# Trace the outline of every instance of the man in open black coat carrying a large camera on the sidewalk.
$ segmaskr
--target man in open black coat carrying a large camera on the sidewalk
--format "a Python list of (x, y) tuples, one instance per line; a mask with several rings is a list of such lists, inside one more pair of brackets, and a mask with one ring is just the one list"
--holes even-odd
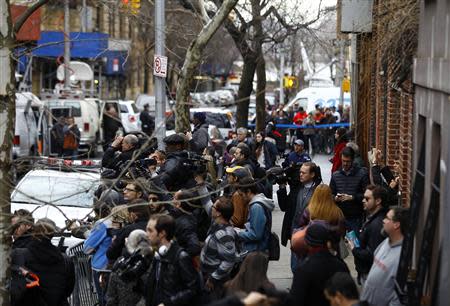
[[(299, 169), (299, 183), (290, 183), (290, 192), (287, 194), (287, 181), (279, 181), (277, 191), (280, 209), (285, 212), (281, 228), (281, 244), (286, 246), (294, 229), (298, 228), (298, 220), (308, 206), (309, 200), (317, 185), (322, 181), (320, 168), (313, 162), (305, 162)], [(291, 181), (292, 182), (292, 181)], [(295, 270), (296, 255), (291, 254), (291, 268)]]

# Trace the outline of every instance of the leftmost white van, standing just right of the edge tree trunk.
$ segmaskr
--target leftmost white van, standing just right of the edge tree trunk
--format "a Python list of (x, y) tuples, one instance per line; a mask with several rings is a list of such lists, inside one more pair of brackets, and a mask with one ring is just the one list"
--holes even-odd
[(31, 92), (16, 93), (16, 123), (14, 128), (13, 158), (34, 156), (38, 153), (39, 131), (33, 110), (43, 106)]

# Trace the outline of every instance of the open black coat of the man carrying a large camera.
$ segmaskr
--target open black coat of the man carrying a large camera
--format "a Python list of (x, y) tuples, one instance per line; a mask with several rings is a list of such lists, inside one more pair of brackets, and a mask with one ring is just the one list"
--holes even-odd
[[(297, 196), (301, 189), (303, 189), (303, 185), (291, 186), (289, 195), (287, 195), (286, 188), (280, 188), (277, 191), (278, 205), (280, 206), (281, 211), (285, 212), (281, 228), (281, 244), (284, 246), (286, 246), (287, 241), (291, 239), (294, 215), (297, 207)], [(311, 189), (306, 192), (306, 196), (301, 200), (301, 203), (299, 203), (302, 207), (299, 210), (300, 214), (298, 216), (298, 221), (300, 220), (303, 210), (308, 206), (309, 200), (315, 189), (316, 185), (314, 184)]]

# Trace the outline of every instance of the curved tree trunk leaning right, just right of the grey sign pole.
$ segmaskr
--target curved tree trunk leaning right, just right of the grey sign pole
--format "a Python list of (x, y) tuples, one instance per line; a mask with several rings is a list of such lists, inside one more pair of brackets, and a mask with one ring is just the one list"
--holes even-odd
[(177, 103), (175, 106), (175, 130), (177, 133), (184, 133), (191, 129), (189, 101), (194, 74), (202, 60), (203, 50), (220, 25), (228, 18), (237, 2), (238, 0), (225, 0), (211, 21), (203, 27), (198, 37), (189, 46), (177, 86)]

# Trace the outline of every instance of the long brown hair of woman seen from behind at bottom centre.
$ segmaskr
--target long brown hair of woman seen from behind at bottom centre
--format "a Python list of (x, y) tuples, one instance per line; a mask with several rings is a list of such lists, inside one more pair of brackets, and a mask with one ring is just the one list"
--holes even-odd
[(228, 295), (237, 292), (250, 293), (259, 289), (270, 290), (275, 286), (267, 278), (269, 258), (262, 252), (252, 252), (245, 257), (238, 274), (225, 283)]

